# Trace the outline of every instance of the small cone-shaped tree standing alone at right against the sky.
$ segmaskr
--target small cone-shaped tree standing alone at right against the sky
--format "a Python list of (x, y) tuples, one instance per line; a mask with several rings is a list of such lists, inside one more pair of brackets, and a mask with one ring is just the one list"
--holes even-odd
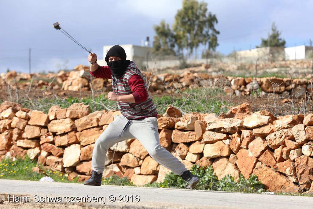
[(272, 24), (272, 34), (269, 35), (268, 39), (261, 39), (261, 44), (258, 47), (285, 47), (286, 41), (280, 37), (281, 32), (277, 30), (275, 22)]

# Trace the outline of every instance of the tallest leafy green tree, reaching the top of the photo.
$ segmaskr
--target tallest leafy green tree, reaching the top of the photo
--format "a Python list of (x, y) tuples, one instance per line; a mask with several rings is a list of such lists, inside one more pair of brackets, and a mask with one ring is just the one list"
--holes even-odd
[(215, 24), (217, 18), (208, 12), (207, 3), (183, 0), (182, 9), (177, 11), (173, 24), (178, 51), (182, 54), (182, 50), (187, 49), (191, 55), (193, 50), (197, 52), (200, 44), (208, 44), (208, 49), (215, 50), (219, 34)]

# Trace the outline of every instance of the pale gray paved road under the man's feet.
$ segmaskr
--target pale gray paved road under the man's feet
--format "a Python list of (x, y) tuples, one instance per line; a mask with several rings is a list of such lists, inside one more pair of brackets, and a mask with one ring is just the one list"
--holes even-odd
[[(0, 194), (10, 194), (22, 200), (29, 196), (31, 202), (47, 201), (49, 197), (99, 197), (89, 206), (106, 208), (313, 208), (313, 197), (280, 196), (196, 190), (160, 189), (128, 186), (84, 186), (74, 183), (55, 183), (22, 180), (0, 180)], [(37, 195), (37, 196), (34, 196)], [(104, 198), (105, 197), (105, 198)], [(116, 200), (114, 201), (114, 197)], [(129, 200), (128, 202), (126, 199)], [(112, 198), (112, 199), (110, 199)], [(124, 202), (119, 202), (123, 198)], [(110, 200), (112, 202), (110, 202)], [(73, 200), (73, 199), (72, 199)], [(72, 201), (64, 199), (63, 201)], [(14, 200), (15, 201), (15, 200)], [(78, 200), (80, 201), (80, 200)], [(113, 202), (114, 201), (114, 202)], [(137, 201), (137, 202), (136, 202)], [(66, 203), (73, 204), (73, 203)], [(91, 204), (91, 205), (90, 205)], [(36, 206), (35, 203), (33, 205)]]

